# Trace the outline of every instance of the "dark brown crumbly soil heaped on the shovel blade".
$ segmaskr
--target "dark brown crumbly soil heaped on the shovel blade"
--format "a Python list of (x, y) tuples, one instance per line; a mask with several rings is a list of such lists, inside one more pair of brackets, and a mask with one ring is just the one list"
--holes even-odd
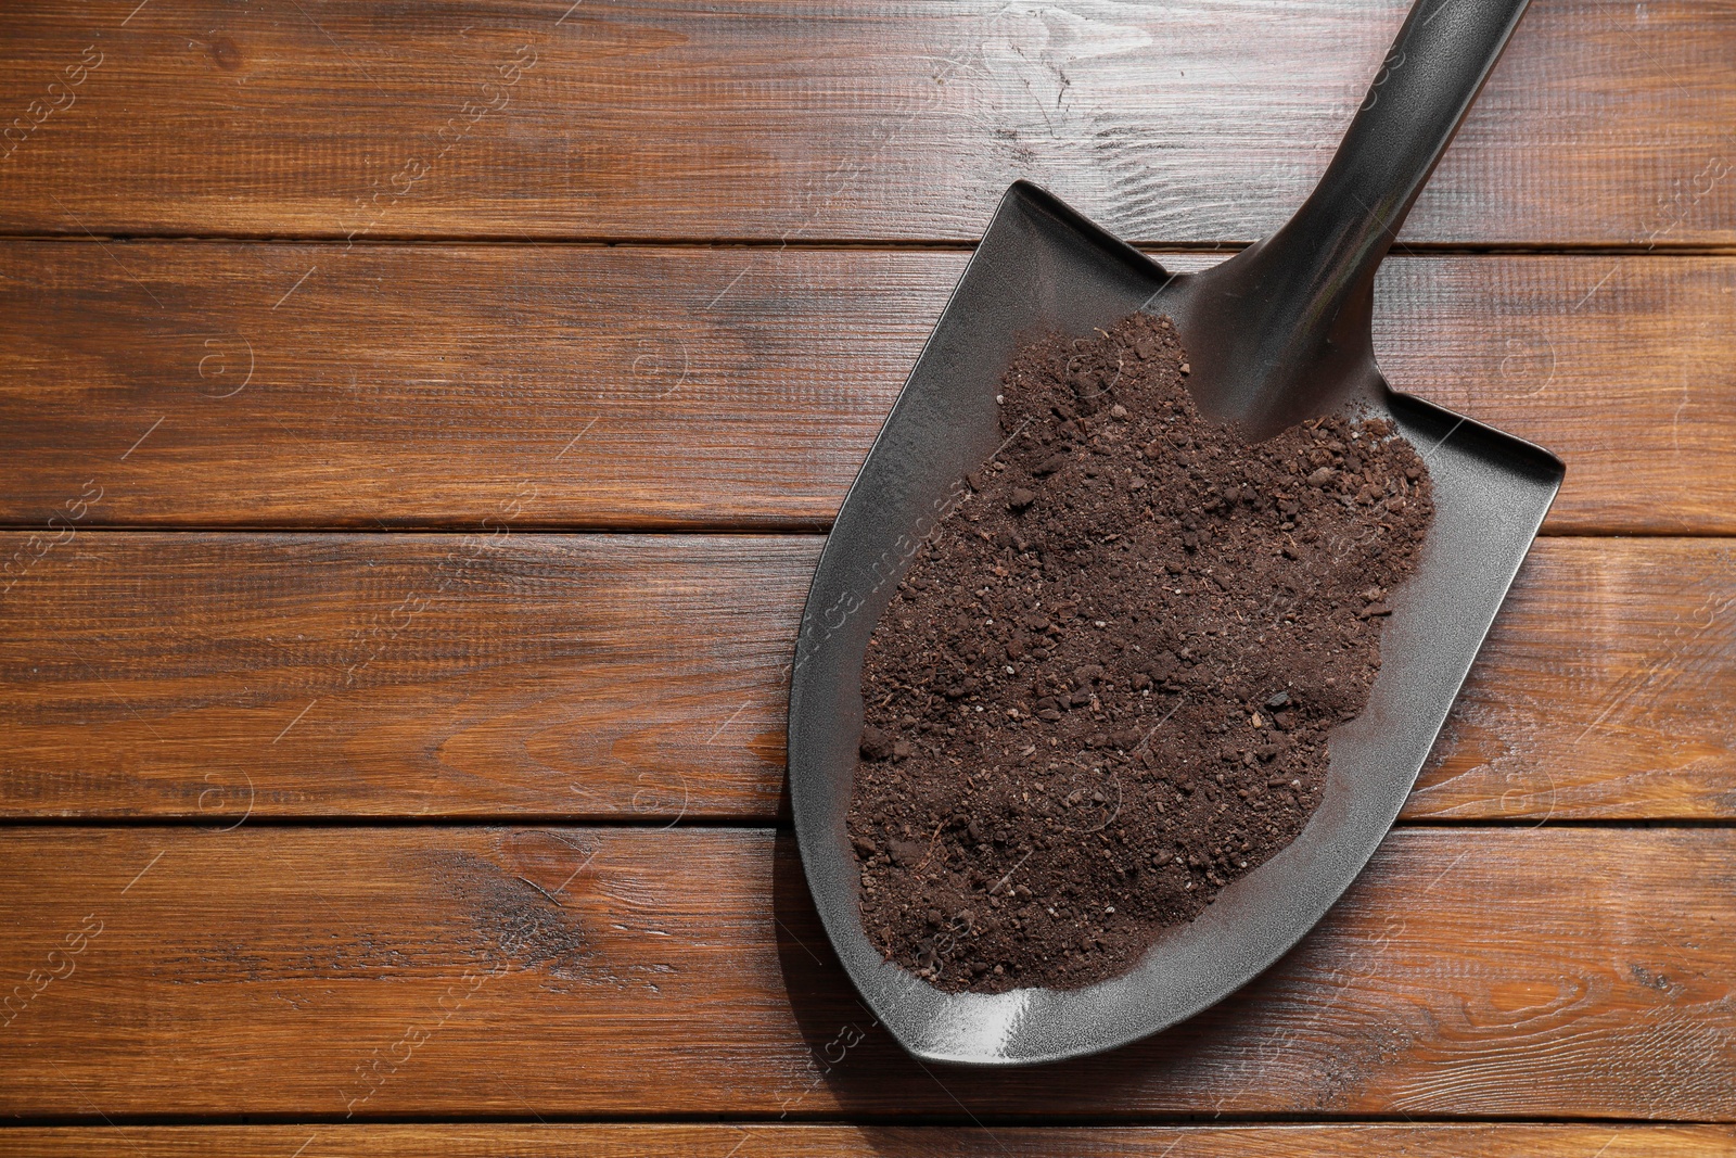
[(1288, 845), (1434, 505), (1378, 418), (1246, 444), (1167, 318), (1024, 345), (1009, 441), (868, 646), (849, 833), (885, 957), (1078, 988)]

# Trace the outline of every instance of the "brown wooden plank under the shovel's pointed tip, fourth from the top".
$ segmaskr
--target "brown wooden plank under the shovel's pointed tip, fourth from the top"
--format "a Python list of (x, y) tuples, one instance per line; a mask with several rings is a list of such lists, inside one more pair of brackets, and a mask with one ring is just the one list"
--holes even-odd
[(1736, 1118), (1729, 828), (1399, 830), (1236, 997), (1017, 1071), (873, 1028), (766, 830), (7, 828), (0, 882), (5, 1115)]

